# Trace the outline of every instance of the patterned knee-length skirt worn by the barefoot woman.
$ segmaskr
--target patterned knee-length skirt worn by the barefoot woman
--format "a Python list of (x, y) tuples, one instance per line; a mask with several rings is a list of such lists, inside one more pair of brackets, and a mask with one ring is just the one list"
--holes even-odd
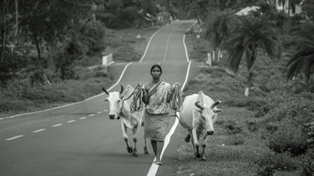
[(144, 138), (150, 138), (155, 141), (165, 141), (169, 121), (169, 113), (151, 114), (144, 111)]

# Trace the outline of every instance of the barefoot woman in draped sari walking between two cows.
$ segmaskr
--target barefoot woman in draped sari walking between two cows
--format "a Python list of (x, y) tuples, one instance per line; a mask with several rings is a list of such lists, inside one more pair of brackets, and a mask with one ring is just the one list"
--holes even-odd
[(168, 103), (172, 97), (174, 88), (170, 84), (160, 81), (163, 73), (160, 65), (151, 67), (151, 77), (153, 81), (143, 85), (142, 100), (146, 104), (144, 112), (144, 137), (151, 139), (156, 160), (154, 163), (162, 165), (160, 154), (163, 150), (165, 134), (169, 126), (170, 115), (168, 112)]

